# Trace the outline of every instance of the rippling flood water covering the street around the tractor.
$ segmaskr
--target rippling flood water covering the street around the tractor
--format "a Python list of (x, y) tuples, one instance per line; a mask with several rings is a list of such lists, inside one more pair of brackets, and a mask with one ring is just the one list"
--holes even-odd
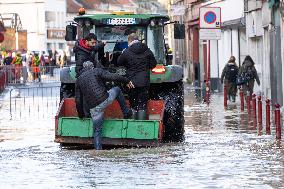
[(261, 134), (239, 107), (228, 109), (221, 94), (207, 106), (186, 93), (185, 142), (95, 151), (54, 143), (54, 118), (37, 116), (37, 108), (34, 117), (10, 119), (6, 100), (0, 188), (284, 188), (283, 144), (274, 128)]

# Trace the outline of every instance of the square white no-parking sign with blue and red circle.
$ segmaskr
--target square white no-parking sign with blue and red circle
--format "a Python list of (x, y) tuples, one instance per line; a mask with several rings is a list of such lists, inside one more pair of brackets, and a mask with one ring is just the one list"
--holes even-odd
[(200, 28), (219, 29), (221, 28), (221, 8), (201, 7), (199, 10)]

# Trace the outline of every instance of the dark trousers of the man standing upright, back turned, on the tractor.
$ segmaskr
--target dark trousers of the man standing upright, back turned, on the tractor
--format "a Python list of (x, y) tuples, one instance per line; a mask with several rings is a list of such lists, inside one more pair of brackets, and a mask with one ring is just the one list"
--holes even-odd
[(133, 110), (146, 110), (149, 98), (149, 87), (135, 87), (128, 93), (129, 103)]

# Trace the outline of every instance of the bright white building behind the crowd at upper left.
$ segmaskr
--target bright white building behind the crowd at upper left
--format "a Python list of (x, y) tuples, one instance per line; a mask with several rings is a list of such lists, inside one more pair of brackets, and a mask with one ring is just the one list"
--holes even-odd
[(17, 13), (27, 30), (27, 49), (64, 49), (65, 0), (0, 0), (1, 13)]

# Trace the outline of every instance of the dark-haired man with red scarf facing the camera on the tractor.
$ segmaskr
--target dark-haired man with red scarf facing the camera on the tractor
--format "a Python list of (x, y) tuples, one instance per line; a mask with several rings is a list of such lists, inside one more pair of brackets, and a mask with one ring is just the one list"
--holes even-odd
[(89, 33), (84, 39), (80, 39), (76, 42), (73, 49), (75, 53), (76, 61), (76, 77), (79, 76), (80, 71), (83, 68), (83, 63), (91, 61), (94, 63), (94, 67), (102, 67), (96, 60), (95, 55), (97, 52), (101, 54), (105, 46), (105, 42), (97, 43), (97, 36), (93, 33)]

